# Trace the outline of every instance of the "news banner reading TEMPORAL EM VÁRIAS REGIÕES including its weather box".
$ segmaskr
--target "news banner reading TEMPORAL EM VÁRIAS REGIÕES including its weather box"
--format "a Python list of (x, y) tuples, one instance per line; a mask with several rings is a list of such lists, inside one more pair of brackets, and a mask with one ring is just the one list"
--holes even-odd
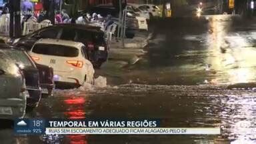
[(17, 135), (219, 135), (219, 127), (163, 127), (159, 119), (16, 119)]

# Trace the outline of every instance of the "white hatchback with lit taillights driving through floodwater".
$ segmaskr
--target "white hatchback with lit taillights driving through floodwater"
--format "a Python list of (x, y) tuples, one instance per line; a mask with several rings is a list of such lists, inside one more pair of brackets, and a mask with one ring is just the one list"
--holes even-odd
[(87, 53), (83, 43), (58, 39), (40, 39), (29, 51), (36, 63), (53, 67), (55, 84), (64, 87), (93, 83), (95, 71)]

